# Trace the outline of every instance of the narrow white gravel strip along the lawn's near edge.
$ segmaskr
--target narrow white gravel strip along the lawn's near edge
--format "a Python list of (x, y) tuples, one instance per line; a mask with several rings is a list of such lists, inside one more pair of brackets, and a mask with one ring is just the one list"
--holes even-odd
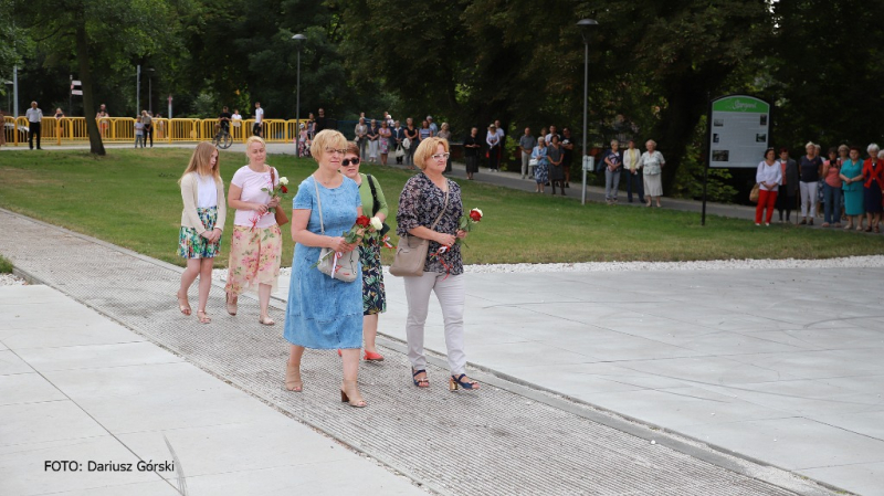
[[(558, 264), (487, 264), (465, 265), (467, 274), (530, 273), (530, 272), (640, 272), (640, 271), (730, 271), (761, 268), (882, 268), (884, 255), (848, 256), (823, 260), (711, 260), (701, 262), (585, 262)], [(389, 267), (383, 267), (389, 275)], [(280, 270), (288, 277), (291, 268)], [(227, 268), (212, 271), (212, 278), (227, 281)]]

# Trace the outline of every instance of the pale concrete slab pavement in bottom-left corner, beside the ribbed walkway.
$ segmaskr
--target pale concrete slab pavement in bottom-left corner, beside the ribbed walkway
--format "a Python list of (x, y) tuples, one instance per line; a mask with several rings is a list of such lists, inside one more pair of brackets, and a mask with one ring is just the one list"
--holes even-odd
[(56, 289), (0, 287), (0, 494), (293, 490), (427, 494)]

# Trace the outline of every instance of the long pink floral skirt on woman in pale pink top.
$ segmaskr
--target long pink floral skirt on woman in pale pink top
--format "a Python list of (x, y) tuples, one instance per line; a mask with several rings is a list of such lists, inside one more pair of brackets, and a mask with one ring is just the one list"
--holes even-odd
[(234, 225), (224, 291), (234, 295), (257, 292), (259, 284), (276, 291), (282, 251), (283, 235), (278, 225), (266, 229)]

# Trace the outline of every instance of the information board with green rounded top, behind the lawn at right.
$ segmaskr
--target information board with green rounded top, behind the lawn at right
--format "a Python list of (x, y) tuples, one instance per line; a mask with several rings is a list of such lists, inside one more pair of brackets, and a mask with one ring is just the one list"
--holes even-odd
[(749, 95), (712, 101), (709, 167), (755, 169), (770, 140), (770, 104)]

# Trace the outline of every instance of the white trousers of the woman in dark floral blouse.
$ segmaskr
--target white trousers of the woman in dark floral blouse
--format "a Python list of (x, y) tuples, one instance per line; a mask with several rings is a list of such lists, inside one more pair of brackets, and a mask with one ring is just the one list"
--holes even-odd
[(435, 293), (442, 307), (442, 319), (445, 324), (445, 348), (448, 348), (449, 369), (452, 376), (466, 373), (466, 355), (463, 351), (463, 307), (466, 300), (466, 287), (463, 274), (424, 272), (420, 277), (404, 277), (406, 297), (408, 298), (408, 319), (406, 337), (408, 339), (408, 359), (414, 370), (427, 369), (427, 356), (423, 353), (423, 331), (427, 312), (430, 305), (430, 292)]

